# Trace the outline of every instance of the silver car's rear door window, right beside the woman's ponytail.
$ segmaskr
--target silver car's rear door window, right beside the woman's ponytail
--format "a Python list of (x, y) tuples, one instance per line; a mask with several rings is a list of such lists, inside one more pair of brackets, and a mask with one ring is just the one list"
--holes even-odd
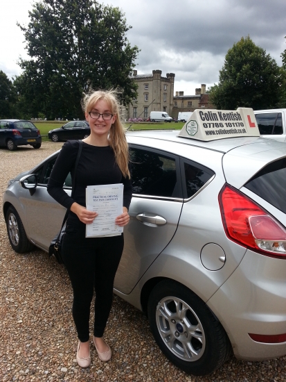
[(134, 194), (174, 197), (177, 183), (175, 158), (145, 149), (129, 149)]

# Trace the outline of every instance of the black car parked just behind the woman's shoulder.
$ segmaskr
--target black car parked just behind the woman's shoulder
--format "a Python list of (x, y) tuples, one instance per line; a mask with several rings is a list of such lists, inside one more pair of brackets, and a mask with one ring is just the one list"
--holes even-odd
[(87, 121), (68, 122), (60, 128), (53, 128), (48, 132), (48, 139), (53, 142), (61, 140), (81, 140), (90, 134), (89, 123)]

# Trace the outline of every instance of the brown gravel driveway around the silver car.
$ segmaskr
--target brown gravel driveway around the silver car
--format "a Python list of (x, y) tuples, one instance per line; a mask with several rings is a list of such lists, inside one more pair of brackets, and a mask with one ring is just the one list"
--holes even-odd
[[(60, 147), (44, 142), (38, 150), (0, 149), (1, 200), (10, 178)], [(102, 363), (91, 347), (91, 367), (80, 369), (64, 266), (44, 251), (16, 254), (2, 214), (0, 224), (0, 381), (286, 381), (286, 357), (261, 363), (231, 357), (204, 377), (181, 372), (161, 354), (145, 315), (116, 296), (105, 332), (113, 357)]]

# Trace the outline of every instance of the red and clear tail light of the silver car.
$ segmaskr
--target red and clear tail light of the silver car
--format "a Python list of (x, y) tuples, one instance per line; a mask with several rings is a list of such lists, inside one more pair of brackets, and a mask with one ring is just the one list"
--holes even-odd
[(286, 259), (286, 229), (242, 192), (229, 185), (219, 195), (229, 239), (262, 255)]

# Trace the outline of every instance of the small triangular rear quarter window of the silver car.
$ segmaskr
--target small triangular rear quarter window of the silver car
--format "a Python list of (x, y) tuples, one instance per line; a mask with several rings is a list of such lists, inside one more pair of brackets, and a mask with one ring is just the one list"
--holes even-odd
[(181, 173), (185, 198), (193, 197), (215, 175), (211, 169), (190, 160), (183, 160)]

